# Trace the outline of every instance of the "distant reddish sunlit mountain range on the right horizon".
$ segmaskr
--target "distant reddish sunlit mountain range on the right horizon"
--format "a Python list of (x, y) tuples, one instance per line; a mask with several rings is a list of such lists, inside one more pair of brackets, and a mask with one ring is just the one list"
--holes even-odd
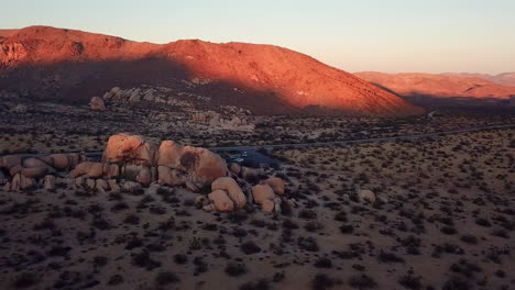
[(430, 74), (357, 72), (355, 76), (402, 97), (508, 99), (515, 87), (478, 77)]

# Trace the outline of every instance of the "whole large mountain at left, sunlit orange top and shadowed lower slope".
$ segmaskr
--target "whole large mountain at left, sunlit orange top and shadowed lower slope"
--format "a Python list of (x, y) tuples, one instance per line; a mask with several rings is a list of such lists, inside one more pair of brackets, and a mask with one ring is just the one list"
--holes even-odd
[(182, 88), (195, 79), (213, 105), (239, 104), (258, 113), (424, 111), (349, 72), (272, 45), (198, 40), (160, 45), (50, 26), (3, 35), (0, 90), (30, 98), (86, 103), (114, 86)]

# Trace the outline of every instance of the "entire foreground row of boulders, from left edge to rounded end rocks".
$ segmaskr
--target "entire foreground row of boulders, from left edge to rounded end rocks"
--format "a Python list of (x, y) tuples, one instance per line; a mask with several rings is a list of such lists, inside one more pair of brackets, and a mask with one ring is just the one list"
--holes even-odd
[(266, 212), (280, 212), (281, 196), (285, 191), (280, 178), (269, 178), (251, 188), (248, 180), (256, 180), (259, 169), (238, 164), (228, 166), (221, 156), (209, 149), (173, 141), (155, 146), (143, 136), (125, 133), (109, 138), (101, 160), (89, 160), (79, 154), (8, 155), (0, 158), (0, 175), (3, 189), (12, 191), (54, 189), (56, 183), (99, 192), (184, 187), (193, 192), (210, 192), (197, 197), (196, 202), (206, 211), (220, 212), (244, 208), (249, 202), (260, 204)]

